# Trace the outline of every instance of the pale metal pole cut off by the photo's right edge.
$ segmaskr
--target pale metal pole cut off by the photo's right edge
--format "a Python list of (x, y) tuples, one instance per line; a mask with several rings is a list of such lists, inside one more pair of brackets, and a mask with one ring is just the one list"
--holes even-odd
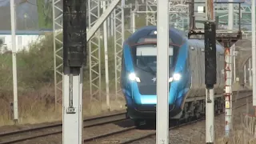
[(251, 3), (252, 62), (253, 62), (253, 106), (256, 106), (256, 43), (255, 43), (255, 1)]

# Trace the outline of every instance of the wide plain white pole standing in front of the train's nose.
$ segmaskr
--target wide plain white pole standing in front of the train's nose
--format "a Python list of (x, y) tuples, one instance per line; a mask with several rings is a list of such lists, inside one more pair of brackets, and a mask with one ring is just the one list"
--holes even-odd
[(157, 3), (157, 144), (169, 143), (169, 1)]

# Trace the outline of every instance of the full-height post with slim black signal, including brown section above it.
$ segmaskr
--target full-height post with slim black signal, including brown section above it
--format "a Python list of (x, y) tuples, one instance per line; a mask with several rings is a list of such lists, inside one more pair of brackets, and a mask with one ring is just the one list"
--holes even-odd
[[(206, 21), (214, 22), (214, 1), (206, 0)], [(211, 27), (211, 28), (210, 28)], [(206, 143), (214, 143), (214, 84), (217, 81), (216, 75), (216, 42), (215, 38), (209, 38), (212, 26), (206, 26), (205, 23), (205, 42), (206, 52), (205, 54), (205, 72), (206, 72)], [(210, 30), (209, 30), (210, 29)], [(216, 33), (216, 28), (214, 28)], [(214, 34), (215, 35), (215, 34)], [(207, 37), (208, 36), (208, 37)], [(216, 36), (214, 36), (216, 37)], [(214, 41), (214, 42), (212, 42)], [(211, 45), (210, 45), (211, 44)], [(214, 68), (214, 69), (213, 69)], [(210, 78), (213, 77), (213, 78)]]

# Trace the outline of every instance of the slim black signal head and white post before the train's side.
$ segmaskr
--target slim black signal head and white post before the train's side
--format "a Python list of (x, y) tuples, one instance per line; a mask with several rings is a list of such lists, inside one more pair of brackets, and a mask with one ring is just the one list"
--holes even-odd
[(205, 22), (206, 143), (214, 143), (214, 84), (216, 84), (215, 22)]

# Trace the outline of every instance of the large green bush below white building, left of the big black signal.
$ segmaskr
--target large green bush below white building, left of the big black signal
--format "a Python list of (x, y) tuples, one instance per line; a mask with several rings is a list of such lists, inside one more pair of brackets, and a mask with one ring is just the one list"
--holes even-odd
[[(54, 82), (52, 39), (47, 36), (39, 42), (31, 43), (30, 51), (17, 53), (18, 90), (36, 90), (46, 83)], [(2, 54), (0, 59), (0, 74), (4, 75), (0, 82), (6, 86), (4, 90), (12, 90), (12, 55)]]

